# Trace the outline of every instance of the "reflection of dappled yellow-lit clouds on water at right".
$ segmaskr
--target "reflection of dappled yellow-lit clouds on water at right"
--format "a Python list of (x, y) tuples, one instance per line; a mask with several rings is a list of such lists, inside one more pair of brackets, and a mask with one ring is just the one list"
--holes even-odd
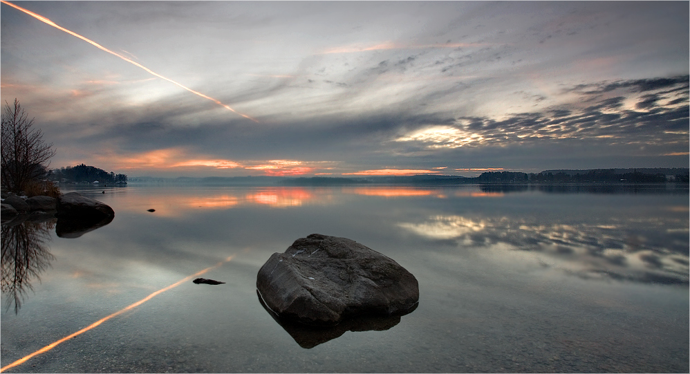
[(584, 279), (689, 283), (688, 226), (670, 219), (545, 224), (507, 216), (436, 215), (398, 226), (435, 241), (498, 250), (498, 256), (505, 250), (529, 253), (528, 261)]

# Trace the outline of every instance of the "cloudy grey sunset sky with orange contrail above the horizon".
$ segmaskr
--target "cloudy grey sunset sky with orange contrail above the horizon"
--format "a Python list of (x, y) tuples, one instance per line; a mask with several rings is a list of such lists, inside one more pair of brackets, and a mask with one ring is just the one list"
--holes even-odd
[(690, 163), (688, 1), (10, 3), (49, 20), (0, 5), (1, 100), (35, 118), (51, 168), (476, 176)]

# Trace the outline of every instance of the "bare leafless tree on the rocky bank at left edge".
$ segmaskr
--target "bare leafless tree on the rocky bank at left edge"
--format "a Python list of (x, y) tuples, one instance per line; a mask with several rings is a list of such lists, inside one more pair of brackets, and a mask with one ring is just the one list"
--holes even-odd
[(0, 169), (2, 186), (8, 191), (24, 191), (31, 183), (44, 178), (50, 165), (48, 160), (55, 156), (53, 143), (44, 142), (43, 132), (32, 129), (33, 122), (17, 99), (12, 106), (5, 102)]

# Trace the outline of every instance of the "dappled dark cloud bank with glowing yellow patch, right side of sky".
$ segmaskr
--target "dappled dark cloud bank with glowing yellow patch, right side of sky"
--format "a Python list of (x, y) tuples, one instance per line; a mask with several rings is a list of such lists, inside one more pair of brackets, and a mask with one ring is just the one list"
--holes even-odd
[[(590, 86), (599, 88), (584, 89)], [(687, 148), (687, 86), (688, 76), (579, 86), (564, 90), (580, 93), (577, 101), (559, 108), (516, 113), (503, 120), (458, 117), (453, 125), (415, 129), (394, 141), (414, 142), (426, 149), (510, 146), (566, 139), (608, 144), (674, 144), (674, 147)], [(599, 95), (613, 91), (624, 95)], [(656, 92), (635, 95), (649, 91)], [(581, 106), (581, 102), (588, 105)], [(626, 106), (627, 102), (635, 104)]]

